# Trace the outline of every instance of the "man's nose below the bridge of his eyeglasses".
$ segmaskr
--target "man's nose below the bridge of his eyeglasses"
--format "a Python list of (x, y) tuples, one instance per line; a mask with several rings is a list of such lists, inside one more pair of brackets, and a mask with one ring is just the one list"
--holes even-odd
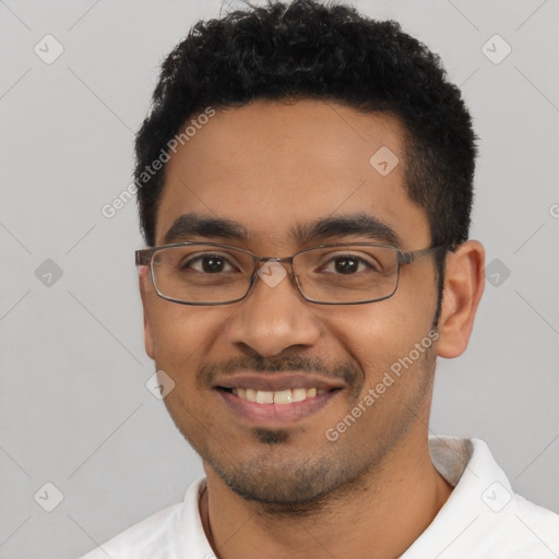
[[(267, 263), (270, 264), (270, 262)], [(264, 265), (248, 296), (229, 319), (226, 335), (241, 349), (272, 357), (289, 347), (310, 347), (321, 336), (321, 323), (282, 264)], [(272, 271), (271, 271), (272, 270)], [(280, 277), (281, 276), (281, 277)]]

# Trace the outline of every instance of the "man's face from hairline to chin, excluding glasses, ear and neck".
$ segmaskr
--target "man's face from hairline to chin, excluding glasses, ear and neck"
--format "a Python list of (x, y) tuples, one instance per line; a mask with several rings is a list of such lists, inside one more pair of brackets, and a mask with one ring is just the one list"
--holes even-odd
[[(385, 176), (369, 163), (383, 146), (400, 159)], [(426, 248), (426, 213), (405, 192), (404, 164), (403, 130), (386, 115), (312, 100), (219, 110), (167, 164), (156, 243), (223, 242), (278, 258), (323, 242), (385, 243), (364, 231), (292, 236), (320, 219), (366, 214), (389, 226), (402, 250)], [(185, 214), (236, 222), (247, 237), (182, 231), (169, 238)], [(243, 300), (212, 307), (166, 301), (145, 274), (141, 282), (147, 353), (176, 383), (167, 408), (206, 471), (238, 495), (312, 501), (350, 486), (424, 432), (432, 348), (412, 365), (408, 358), (400, 378), (391, 373), (382, 394), (376, 386), (431, 329), (432, 257), (402, 267), (393, 297), (366, 305), (308, 302), (289, 276), (274, 287), (259, 277)], [(245, 401), (231, 386), (308, 391), (301, 402), (264, 404)], [(312, 395), (313, 386), (325, 392)], [(378, 396), (372, 404), (370, 389)], [(336, 437), (332, 428), (359, 403), (360, 417)]]

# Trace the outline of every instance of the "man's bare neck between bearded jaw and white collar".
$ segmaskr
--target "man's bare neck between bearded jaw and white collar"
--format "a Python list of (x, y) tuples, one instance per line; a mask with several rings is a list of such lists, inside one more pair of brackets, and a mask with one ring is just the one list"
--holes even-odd
[[(417, 441), (417, 442), (415, 442)], [(234, 493), (205, 464), (200, 512), (219, 559), (400, 557), (432, 522), (452, 487), (435, 469), (425, 439), (399, 445), (349, 490), (316, 513), (274, 514)]]

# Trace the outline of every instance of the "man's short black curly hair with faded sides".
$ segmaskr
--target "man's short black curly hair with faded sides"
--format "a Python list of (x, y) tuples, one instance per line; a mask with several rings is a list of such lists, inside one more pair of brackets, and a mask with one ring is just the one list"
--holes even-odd
[(407, 192), (426, 210), (432, 245), (467, 239), (476, 141), (460, 90), (447, 81), (439, 57), (396, 22), (365, 17), (348, 5), (269, 0), (197, 23), (163, 63), (135, 142), (147, 245), (155, 243), (165, 183), (165, 166), (154, 171), (152, 164), (168, 155), (169, 140), (188, 119), (207, 107), (293, 98), (396, 116), (406, 131)]

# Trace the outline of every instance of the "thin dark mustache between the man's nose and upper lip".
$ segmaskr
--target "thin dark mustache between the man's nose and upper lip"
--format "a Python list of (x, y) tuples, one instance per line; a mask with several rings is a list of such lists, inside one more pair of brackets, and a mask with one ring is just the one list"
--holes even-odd
[(215, 384), (215, 379), (222, 374), (234, 374), (247, 370), (254, 372), (318, 372), (325, 378), (343, 380), (348, 385), (353, 385), (359, 376), (359, 370), (354, 365), (338, 362), (326, 366), (317, 357), (298, 355), (285, 357), (241, 356), (222, 362), (203, 365), (197, 373), (197, 385), (212, 386)]

